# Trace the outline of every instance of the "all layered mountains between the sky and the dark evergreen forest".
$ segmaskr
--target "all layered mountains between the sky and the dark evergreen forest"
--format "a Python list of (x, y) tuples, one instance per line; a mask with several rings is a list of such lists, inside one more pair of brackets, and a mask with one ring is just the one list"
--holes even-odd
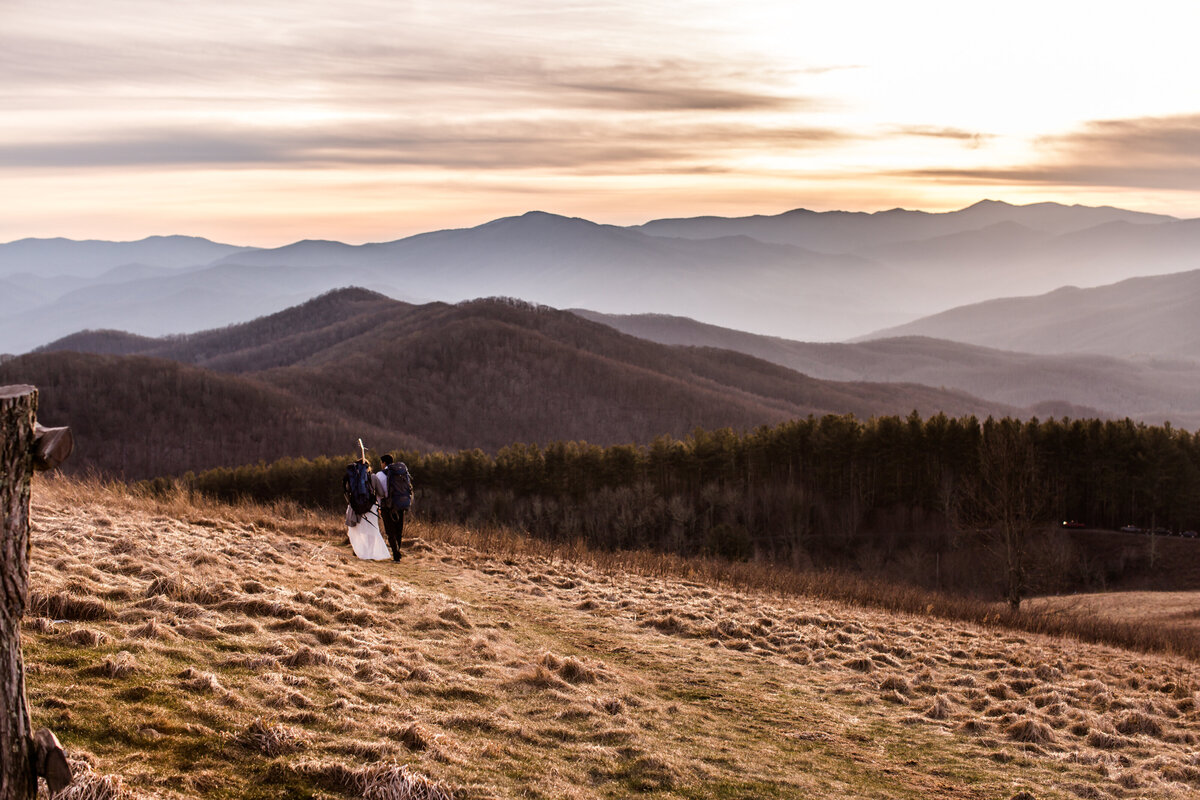
[(0, 383), (42, 389), (42, 416), (80, 433), (76, 468), (130, 477), (359, 437), (614, 444), (827, 413), (1195, 428), (1196, 253), (1200, 221), (1001, 203), (635, 228), (530, 212), (275, 249), (23, 240), (0, 245), (0, 351), (32, 351), (0, 357)]

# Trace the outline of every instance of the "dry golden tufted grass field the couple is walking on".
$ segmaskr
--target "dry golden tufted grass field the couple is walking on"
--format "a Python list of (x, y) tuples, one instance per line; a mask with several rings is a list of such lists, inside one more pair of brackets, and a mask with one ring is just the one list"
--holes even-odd
[(1181, 657), (61, 479), (32, 519), (74, 800), (1200, 795)]

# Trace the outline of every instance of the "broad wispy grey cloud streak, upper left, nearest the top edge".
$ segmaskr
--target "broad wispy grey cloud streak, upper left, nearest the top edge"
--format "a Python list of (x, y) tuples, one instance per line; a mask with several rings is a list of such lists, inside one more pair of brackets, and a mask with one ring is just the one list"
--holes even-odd
[[(577, 48), (546, 31), (530, 48), (510, 37), (388, 35), (388, 25), (247, 36), (163, 38), (131, 26), (113, 37), (38, 30), (0, 48), (0, 96), (37, 102), (47, 94), (148, 98), (214, 106), (251, 98), (334, 108), (602, 108), (785, 110), (816, 108), (791, 85), (796, 74), (752, 55), (644, 55), (626, 48)], [(679, 49), (678, 47), (676, 49)]]

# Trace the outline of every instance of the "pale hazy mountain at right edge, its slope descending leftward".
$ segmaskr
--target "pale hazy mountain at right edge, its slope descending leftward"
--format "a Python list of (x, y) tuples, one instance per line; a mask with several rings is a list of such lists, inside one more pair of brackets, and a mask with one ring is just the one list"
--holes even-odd
[(1028, 353), (1200, 359), (1200, 270), (974, 303), (864, 338), (934, 336)]

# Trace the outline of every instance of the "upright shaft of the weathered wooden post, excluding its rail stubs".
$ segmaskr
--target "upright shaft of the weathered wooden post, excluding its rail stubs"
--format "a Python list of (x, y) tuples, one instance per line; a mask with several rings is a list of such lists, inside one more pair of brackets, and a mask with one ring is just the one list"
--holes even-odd
[(0, 800), (37, 793), (31, 760), (20, 618), (29, 589), (29, 487), (37, 390), (0, 387)]

